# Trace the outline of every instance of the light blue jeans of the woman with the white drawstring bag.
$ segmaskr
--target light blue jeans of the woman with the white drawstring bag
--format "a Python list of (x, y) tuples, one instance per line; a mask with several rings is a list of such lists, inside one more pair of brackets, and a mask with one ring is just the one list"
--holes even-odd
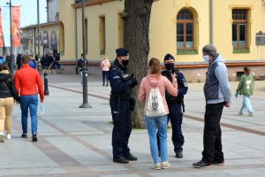
[(156, 126), (158, 127), (158, 135), (160, 140), (161, 148), (161, 160), (162, 162), (168, 161), (168, 142), (167, 142), (167, 125), (168, 118), (167, 115), (159, 117), (148, 117), (145, 115), (145, 119), (148, 127), (149, 143), (151, 155), (154, 160), (154, 163), (159, 163), (158, 159), (158, 147), (156, 139)]

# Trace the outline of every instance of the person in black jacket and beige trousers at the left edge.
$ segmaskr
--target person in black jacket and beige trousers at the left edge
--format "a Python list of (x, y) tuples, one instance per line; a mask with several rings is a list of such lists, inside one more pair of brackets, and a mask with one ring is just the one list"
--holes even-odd
[(7, 64), (0, 64), (0, 142), (4, 142), (4, 131), (6, 139), (11, 139), (14, 99), (19, 103), (19, 94), (10, 69)]

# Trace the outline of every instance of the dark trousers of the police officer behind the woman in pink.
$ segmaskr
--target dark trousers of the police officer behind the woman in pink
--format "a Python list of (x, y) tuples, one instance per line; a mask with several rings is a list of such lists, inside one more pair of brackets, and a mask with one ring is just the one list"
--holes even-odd
[[(169, 104), (168, 107), (170, 111), (170, 114), (168, 114), (168, 122), (170, 120), (172, 127), (171, 140), (174, 145), (174, 151), (175, 152), (182, 151), (183, 150), (182, 146), (184, 144), (184, 136), (181, 130), (181, 124), (183, 119), (181, 104)], [(160, 150), (160, 142), (158, 134), (156, 134), (156, 138), (157, 138), (158, 150)]]

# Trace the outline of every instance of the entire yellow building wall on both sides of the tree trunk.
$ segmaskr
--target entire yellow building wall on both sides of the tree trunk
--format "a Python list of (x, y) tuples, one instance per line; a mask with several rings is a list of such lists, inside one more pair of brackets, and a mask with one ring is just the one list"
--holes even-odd
[[(209, 0), (160, 0), (152, 6), (149, 42), (149, 58), (160, 58), (166, 53), (171, 53), (177, 62), (202, 62), (201, 49), (210, 42), (210, 12)], [(221, 53), (226, 61), (228, 60), (257, 60), (265, 58), (265, 47), (255, 45), (255, 33), (260, 30), (265, 33), (265, 6), (261, 6), (259, 0), (213, 0), (213, 44), (217, 52)], [(64, 55), (62, 60), (69, 60), (75, 57), (74, 45), (74, 7), (73, 0), (60, 0), (60, 20), (64, 23)], [(113, 60), (116, 57), (115, 50), (118, 46), (118, 13), (123, 12), (125, 0), (112, 1), (109, 3), (86, 6), (85, 18), (87, 19), (87, 42), (89, 60), (98, 61), (104, 57)], [(231, 8), (249, 7), (251, 9), (251, 32), (250, 32), (250, 53), (233, 53), (231, 39)], [(195, 24), (198, 29), (195, 32), (198, 54), (179, 55), (177, 54), (177, 14), (186, 8), (195, 15)], [(105, 55), (100, 55), (99, 44), (99, 16), (105, 16), (106, 27), (106, 49)], [(77, 9), (77, 31), (78, 31), (78, 57), (82, 49), (82, 25), (81, 8)], [(262, 52), (263, 51), (263, 52)]]

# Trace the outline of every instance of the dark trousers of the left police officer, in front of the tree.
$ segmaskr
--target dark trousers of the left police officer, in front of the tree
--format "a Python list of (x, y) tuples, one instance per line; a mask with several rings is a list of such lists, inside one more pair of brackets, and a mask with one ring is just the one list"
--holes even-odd
[[(110, 99), (110, 108), (114, 126), (112, 130), (113, 158), (129, 156), (130, 149), (128, 147), (128, 142), (132, 132), (130, 102), (121, 100), (118, 111), (117, 101)], [(119, 112), (118, 117), (117, 112)]]

